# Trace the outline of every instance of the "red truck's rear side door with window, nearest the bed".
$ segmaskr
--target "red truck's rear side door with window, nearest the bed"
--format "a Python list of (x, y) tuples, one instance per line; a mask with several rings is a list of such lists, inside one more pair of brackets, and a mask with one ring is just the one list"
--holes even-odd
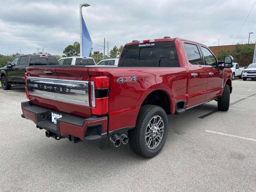
[(187, 107), (190, 107), (205, 101), (208, 72), (205, 70), (198, 45), (184, 42), (184, 48), (189, 69)]

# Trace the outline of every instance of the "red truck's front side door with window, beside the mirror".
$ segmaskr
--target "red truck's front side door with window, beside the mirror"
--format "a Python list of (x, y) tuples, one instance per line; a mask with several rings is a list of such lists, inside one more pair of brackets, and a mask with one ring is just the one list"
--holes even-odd
[(204, 70), (208, 74), (206, 100), (216, 98), (222, 90), (223, 70), (219, 69), (217, 59), (205, 46), (200, 46), (204, 60)]

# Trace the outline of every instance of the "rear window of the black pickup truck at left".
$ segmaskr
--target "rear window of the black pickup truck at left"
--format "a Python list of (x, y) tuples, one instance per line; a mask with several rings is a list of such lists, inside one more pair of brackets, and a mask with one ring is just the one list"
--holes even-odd
[(31, 56), (29, 65), (58, 65), (58, 60), (54, 56), (44, 56), (40, 55)]

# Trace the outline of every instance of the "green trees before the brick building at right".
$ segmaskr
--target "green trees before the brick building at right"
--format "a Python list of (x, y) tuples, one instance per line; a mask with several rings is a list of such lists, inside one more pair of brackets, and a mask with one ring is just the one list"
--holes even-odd
[(236, 44), (235, 49), (221, 49), (218, 54), (218, 60), (224, 60), (226, 55), (231, 55), (234, 62), (242, 66), (248, 66), (252, 63), (254, 48), (250, 44)]

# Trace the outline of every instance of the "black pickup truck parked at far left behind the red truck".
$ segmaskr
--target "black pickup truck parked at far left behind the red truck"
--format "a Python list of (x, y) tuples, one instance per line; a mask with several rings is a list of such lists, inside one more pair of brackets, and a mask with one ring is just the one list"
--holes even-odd
[(16, 56), (7, 66), (0, 68), (2, 88), (9, 90), (12, 85), (25, 85), (26, 67), (34, 65), (58, 65), (58, 60), (55, 56), (46, 54)]

